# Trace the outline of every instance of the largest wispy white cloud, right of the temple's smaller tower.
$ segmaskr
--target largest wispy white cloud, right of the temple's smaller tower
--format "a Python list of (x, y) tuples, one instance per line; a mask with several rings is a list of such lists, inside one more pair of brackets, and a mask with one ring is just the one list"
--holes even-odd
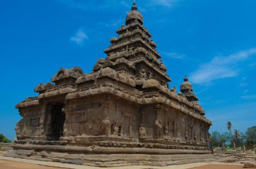
[(239, 73), (238, 62), (247, 60), (256, 54), (256, 48), (231, 54), (230, 56), (215, 56), (210, 62), (201, 64), (191, 73), (191, 81), (196, 84), (205, 84), (220, 78), (230, 78)]

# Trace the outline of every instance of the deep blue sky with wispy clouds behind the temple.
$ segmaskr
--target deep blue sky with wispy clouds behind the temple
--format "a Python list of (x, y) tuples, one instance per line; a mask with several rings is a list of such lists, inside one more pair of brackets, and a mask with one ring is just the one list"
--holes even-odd
[[(61, 67), (91, 72), (132, 0), (0, 1), (0, 133), (13, 139), (15, 104)], [(256, 125), (256, 1), (137, 0), (172, 78), (193, 83), (211, 131)]]

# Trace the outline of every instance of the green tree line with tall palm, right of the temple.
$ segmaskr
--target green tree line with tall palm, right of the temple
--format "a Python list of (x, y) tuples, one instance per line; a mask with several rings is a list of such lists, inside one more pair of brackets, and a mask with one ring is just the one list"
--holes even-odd
[(245, 133), (234, 129), (232, 131), (232, 123), (226, 123), (228, 131), (220, 133), (219, 131), (212, 132), (211, 146), (222, 147), (223, 144), (230, 148), (238, 148), (245, 145), (247, 149), (256, 146), (256, 126), (249, 127)]

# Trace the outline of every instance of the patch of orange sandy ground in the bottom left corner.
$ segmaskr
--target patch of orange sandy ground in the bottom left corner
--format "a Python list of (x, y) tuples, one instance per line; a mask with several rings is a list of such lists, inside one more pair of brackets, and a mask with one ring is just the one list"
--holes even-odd
[[(22, 162), (11, 162), (0, 160), (0, 168), (2, 169), (55, 169), (54, 167), (39, 166), (36, 164), (28, 164)], [(61, 168), (57, 168), (61, 169)]]

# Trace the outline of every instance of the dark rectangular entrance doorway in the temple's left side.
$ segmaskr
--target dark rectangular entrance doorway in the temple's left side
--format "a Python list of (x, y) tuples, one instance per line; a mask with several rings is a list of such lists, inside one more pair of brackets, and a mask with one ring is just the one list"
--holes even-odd
[(59, 140), (59, 138), (63, 136), (63, 127), (65, 123), (65, 112), (63, 112), (63, 106), (53, 105), (51, 116), (51, 139)]

